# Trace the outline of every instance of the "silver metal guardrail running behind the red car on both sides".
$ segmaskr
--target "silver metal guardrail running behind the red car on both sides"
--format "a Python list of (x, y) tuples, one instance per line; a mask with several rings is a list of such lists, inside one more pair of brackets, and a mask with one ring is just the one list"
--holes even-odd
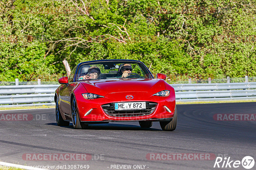
[[(256, 82), (172, 84), (176, 101), (256, 100)], [(0, 107), (54, 104), (54, 92), (59, 85), (0, 86)], [(33, 103), (33, 104), (31, 104)], [(8, 105), (7, 105), (8, 104)]]

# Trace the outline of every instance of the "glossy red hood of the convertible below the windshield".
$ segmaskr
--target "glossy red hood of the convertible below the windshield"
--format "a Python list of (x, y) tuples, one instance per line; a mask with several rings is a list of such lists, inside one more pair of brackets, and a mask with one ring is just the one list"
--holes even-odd
[(155, 94), (165, 89), (162, 79), (106, 79), (81, 81), (89, 93), (105, 96), (116, 92), (148, 92)]

